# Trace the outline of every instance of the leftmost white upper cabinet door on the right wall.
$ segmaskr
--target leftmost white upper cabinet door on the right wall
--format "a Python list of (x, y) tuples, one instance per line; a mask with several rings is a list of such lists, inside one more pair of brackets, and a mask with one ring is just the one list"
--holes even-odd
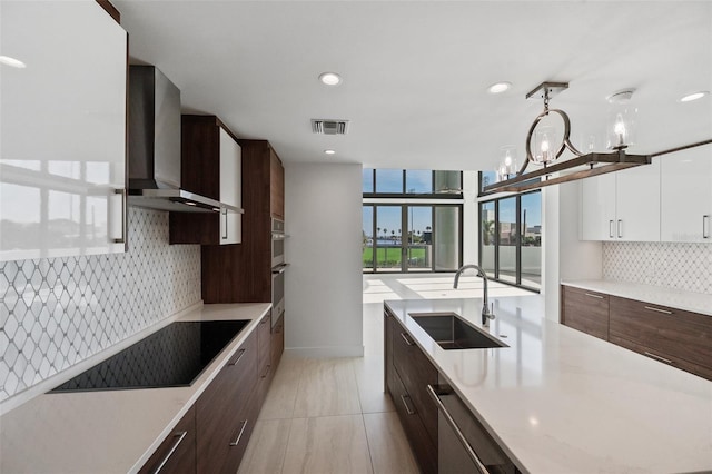
[(615, 239), (615, 174), (581, 181), (581, 239)]

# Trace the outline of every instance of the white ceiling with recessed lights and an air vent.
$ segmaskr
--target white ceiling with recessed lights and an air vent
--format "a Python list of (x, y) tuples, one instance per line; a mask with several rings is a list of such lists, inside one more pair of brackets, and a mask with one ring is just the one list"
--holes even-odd
[[(502, 146), (524, 155), (543, 109), (524, 97), (544, 80), (570, 82), (552, 107), (568, 112), (580, 148), (603, 142), (605, 98), (630, 87), (632, 152), (712, 138), (712, 97), (678, 101), (712, 90), (709, 1), (113, 3), (131, 58), (181, 89), (184, 111), (268, 139), (285, 161), (491, 169)], [(343, 83), (323, 86), (324, 71)], [(502, 80), (513, 88), (486, 92)], [(349, 132), (313, 135), (312, 118), (349, 119)]]

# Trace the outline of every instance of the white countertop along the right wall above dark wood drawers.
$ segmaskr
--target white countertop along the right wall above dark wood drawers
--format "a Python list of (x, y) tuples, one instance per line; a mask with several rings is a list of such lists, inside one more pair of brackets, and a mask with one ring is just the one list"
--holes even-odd
[(565, 280), (561, 284), (712, 316), (712, 295), (705, 293), (610, 279)]

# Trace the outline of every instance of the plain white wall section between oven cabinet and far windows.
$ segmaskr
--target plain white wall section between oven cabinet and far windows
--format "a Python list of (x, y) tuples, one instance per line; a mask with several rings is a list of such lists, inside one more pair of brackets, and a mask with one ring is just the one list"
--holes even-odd
[(364, 354), (360, 165), (285, 164), (285, 350)]

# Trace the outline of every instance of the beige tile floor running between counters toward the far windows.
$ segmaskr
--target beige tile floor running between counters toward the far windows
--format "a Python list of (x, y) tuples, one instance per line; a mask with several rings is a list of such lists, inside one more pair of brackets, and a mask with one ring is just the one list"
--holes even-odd
[[(417, 473), (390, 398), (383, 392), (383, 300), (479, 296), (479, 278), (364, 276), (364, 357), (281, 359), (239, 474)], [(514, 292), (514, 293), (513, 293)], [(491, 294), (521, 292), (492, 285)]]

